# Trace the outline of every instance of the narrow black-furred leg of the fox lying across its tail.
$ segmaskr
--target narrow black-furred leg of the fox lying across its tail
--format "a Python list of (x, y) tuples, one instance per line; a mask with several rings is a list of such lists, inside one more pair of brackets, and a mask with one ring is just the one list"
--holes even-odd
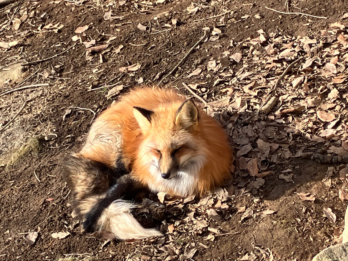
[(140, 187), (130, 175), (120, 177), (116, 184), (114, 184), (106, 194), (106, 196), (97, 201), (93, 208), (85, 215), (85, 221), (82, 226), (86, 232), (94, 232), (95, 225), (102, 215), (105, 208), (107, 208), (114, 200), (124, 199), (132, 200)]

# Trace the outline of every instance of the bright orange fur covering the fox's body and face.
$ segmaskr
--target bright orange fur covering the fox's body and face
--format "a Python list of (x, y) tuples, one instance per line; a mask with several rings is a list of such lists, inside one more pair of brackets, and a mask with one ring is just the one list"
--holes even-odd
[[(109, 167), (113, 167), (120, 157), (134, 179), (154, 192), (165, 191), (178, 196), (202, 195), (229, 177), (231, 149), (223, 129), (201, 109), (198, 109), (198, 122), (192, 129), (183, 129), (185, 119), (176, 122), (178, 109), (185, 100), (172, 90), (133, 90), (96, 119), (79, 155)], [(134, 106), (153, 111), (150, 125), (141, 120), (143, 128), (139, 126), (134, 117)], [(204, 161), (192, 189), (187, 191), (176, 189), (176, 184), (174, 188), (168, 185), (171, 180), (163, 184), (161, 179), (151, 175), (149, 160), (159, 157), (156, 148), (161, 148), (162, 155), (159, 172), (172, 166), (173, 144), (184, 146), (175, 155), (177, 160), (189, 155), (186, 157), (198, 157)]]

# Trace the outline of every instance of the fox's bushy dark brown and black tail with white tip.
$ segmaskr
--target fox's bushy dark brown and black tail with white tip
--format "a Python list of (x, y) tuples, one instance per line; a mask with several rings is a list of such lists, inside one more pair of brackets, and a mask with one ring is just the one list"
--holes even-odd
[(134, 198), (139, 186), (124, 168), (110, 169), (75, 155), (66, 158), (64, 174), (86, 232), (108, 231), (122, 240), (161, 235), (156, 229), (143, 228), (130, 213), (136, 205), (126, 200)]

